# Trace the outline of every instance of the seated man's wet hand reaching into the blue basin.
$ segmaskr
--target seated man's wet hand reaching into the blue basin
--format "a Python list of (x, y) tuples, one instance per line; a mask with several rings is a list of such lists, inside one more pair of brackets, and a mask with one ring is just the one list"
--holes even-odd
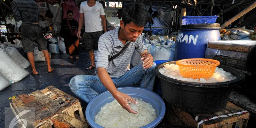
[(132, 99), (132, 97), (130, 97), (127, 94), (121, 93), (121, 92), (117, 92), (116, 94), (113, 95), (114, 98), (118, 101), (118, 103), (128, 112), (133, 113), (133, 114), (138, 114), (138, 112), (132, 110), (132, 108), (130, 107), (128, 101), (131, 101), (134, 104), (138, 104), (138, 101)]

